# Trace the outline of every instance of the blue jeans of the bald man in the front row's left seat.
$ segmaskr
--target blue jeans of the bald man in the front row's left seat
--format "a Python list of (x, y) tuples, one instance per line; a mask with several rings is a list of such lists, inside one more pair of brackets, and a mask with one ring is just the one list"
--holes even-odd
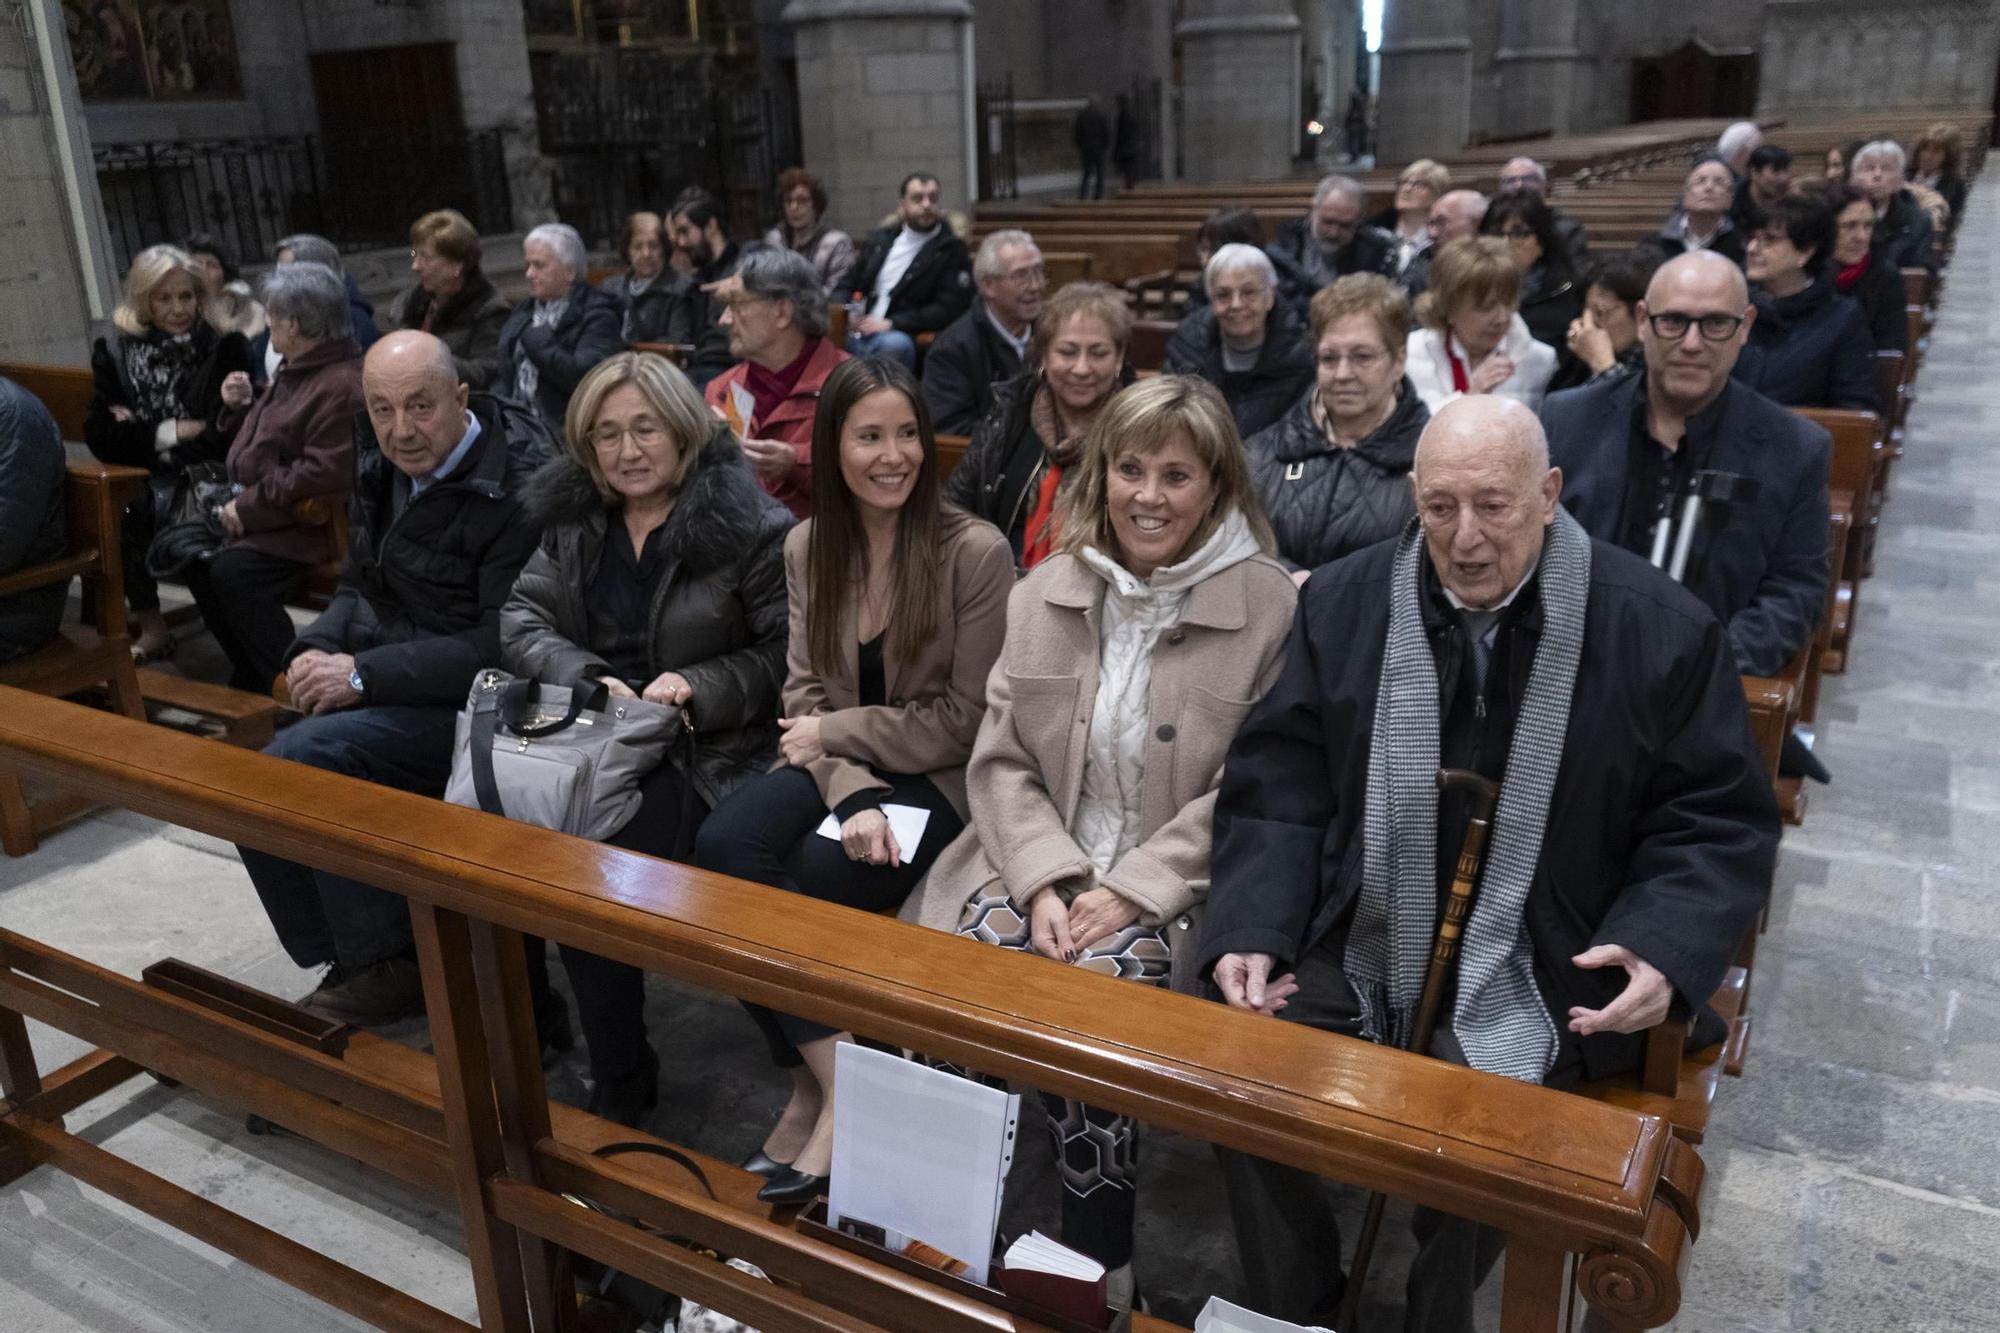
[[(444, 781), (452, 775), (456, 721), (458, 709), (442, 705), (346, 709), (294, 723), (264, 753), (398, 791), (442, 797)], [(410, 905), (400, 893), (254, 847), (236, 851), (264, 901), (264, 915), (278, 931), (278, 943), (300, 967), (340, 963), (354, 971), (410, 951)]]

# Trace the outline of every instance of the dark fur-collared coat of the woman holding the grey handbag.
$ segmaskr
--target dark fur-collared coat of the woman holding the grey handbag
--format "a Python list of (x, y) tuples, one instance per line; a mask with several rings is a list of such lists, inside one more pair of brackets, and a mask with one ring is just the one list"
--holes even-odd
[[(570, 458), (528, 484), (542, 544), (500, 616), (508, 671), (572, 687), (610, 673), (590, 644), (590, 580), (604, 542), (628, 540), (590, 474)], [(688, 472), (660, 534), (662, 572), (648, 612), (648, 671), (692, 687), (694, 787), (714, 807), (778, 753), (784, 691), (784, 534), (792, 514), (764, 494), (742, 446), (718, 430)]]

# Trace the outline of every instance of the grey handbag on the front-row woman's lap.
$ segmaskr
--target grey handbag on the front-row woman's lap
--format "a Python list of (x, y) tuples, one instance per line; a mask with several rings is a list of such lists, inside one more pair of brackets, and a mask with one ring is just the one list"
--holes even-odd
[(482, 671), (472, 683), (444, 799), (602, 843), (638, 811), (640, 783), (692, 741), (678, 709)]

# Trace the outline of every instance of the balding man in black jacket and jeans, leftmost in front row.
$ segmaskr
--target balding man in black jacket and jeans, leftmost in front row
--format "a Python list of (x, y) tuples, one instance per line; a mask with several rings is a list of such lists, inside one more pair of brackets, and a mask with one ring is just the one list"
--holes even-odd
[[(532, 410), (468, 394), (424, 332), (368, 350), (362, 396), (348, 562), (284, 671), (306, 717), (264, 753), (438, 797), (458, 709), (500, 660), (500, 606), (540, 536), (520, 486), (554, 448)], [(306, 1009), (356, 1025), (422, 1009), (400, 895), (238, 851), (292, 961), (330, 965)]]

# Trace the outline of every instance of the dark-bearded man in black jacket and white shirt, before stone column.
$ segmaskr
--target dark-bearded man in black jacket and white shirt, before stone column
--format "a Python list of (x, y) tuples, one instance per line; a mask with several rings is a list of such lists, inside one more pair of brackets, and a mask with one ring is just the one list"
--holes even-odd
[(882, 352), (916, 368), (916, 334), (938, 332), (972, 304), (972, 258), (938, 212), (938, 178), (902, 180), (896, 222), (870, 232), (854, 262), (854, 300), (866, 312), (848, 324), (848, 352)]

